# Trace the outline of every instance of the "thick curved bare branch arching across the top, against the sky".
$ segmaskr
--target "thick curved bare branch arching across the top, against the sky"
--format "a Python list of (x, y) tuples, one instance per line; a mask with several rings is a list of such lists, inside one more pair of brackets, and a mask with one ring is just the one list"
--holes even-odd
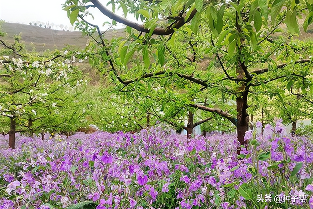
[[(136, 30), (138, 30), (140, 32), (149, 33), (149, 29), (145, 28), (144, 25), (135, 23), (135, 22), (130, 21), (130, 20), (126, 19), (126, 18), (123, 18), (123, 17), (120, 17), (120, 16), (116, 15), (115, 13), (113, 13), (112, 11), (107, 9), (105, 6), (103, 6), (99, 2), (99, 0), (90, 0), (90, 2), (93, 3), (94, 7), (98, 8), (102, 14), (104, 14), (107, 17), (109, 17), (110, 19), (115, 20), (115, 21), (117, 21), (119, 23), (125, 24), (125, 25), (127, 25), (129, 27), (132, 27), (132, 28), (134, 28), (134, 29), (136, 29)], [(174, 24), (173, 26), (169, 26), (167, 28), (156, 27), (152, 34), (155, 34), (155, 35), (169, 35), (169, 34), (172, 34), (175, 31), (174, 29), (179, 29), (184, 24), (186, 24), (189, 21), (191, 21), (191, 19), (195, 16), (196, 13), (197, 13), (197, 10), (194, 9), (191, 12), (189, 18), (186, 21), (185, 21), (185, 19), (182, 16), (182, 18), (180, 20), (178, 20), (176, 22), (176, 24)]]

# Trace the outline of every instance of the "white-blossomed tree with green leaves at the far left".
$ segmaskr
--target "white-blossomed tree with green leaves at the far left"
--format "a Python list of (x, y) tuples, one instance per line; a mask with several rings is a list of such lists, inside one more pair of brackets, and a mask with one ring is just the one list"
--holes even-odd
[(17, 132), (43, 133), (77, 124), (83, 115), (77, 113), (75, 94), (85, 82), (72, 66), (75, 57), (58, 51), (27, 53), (18, 38), (10, 46), (1, 39), (0, 44), (0, 132), (9, 135), (9, 147), (14, 149)]

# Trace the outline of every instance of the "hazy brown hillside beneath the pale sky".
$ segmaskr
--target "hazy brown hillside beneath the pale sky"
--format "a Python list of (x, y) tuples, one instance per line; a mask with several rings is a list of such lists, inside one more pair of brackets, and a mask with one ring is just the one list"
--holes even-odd
[[(67, 44), (82, 49), (87, 40), (87, 36), (82, 36), (80, 31), (59, 31), (49, 28), (42, 28), (34, 25), (25, 25), (17, 23), (2, 23), (1, 30), (7, 33), (5, 40), (13, 42), (14, 35), (21, 35), (22, 41), (28, 50), (35, 48), (41, 52), (47, 49), (62, 49)], [(124, 36), (124, 29), (108, 30), (105, 34), (107, 39), (113, 36)]]

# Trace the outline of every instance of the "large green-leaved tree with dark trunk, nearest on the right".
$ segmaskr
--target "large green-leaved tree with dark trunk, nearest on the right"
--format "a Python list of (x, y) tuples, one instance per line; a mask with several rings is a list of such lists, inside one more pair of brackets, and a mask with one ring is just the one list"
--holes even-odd
[[(167, 85), (178, 78), (181, 83), (188, 82), (185, 90), (191, 97), (184, 99), (182, 106), (223, 116), (236, 126), (241, 145), (247, 144), (244, 134), (249, 128), (251, 92), (267, 90), (272, 81), (286, 87), (293, 81), (301, 91), (311, 91), (312, 43), (302, 44), (300, 52), (292, 36), (301, 33), (299, 18), (305, 17), (304, 30), (312, 24), (312, 0), (111, 0), (109, 4), (112, 11), (99, 0), (67, 0), (64, 4), (70, 22), (76, 22), (76, 28), (97, 42), (93, 52), (99, 56), (92, 58), (93, 63), (101, 69), (106, 67), (103, 62), (108, 62), (111, 70), (107, 74), (128, 90), (136, 89), (143, 80), (156, 82), (157, 77), (167, 78)], [(116, 5), (124, 17), (115, 13)], [(111, 18), (112, 24), (126, 25), (129, 36), (105, 40), (99, 27), (86, 19), (92, 9)], [(144, 24), (130, 21), (127, 15), (140, 18)], [(287, 26), (285, 32), (283, 25)], [(183, 46), (184, 50), (179, 50)], [(137, 60), (130, 64), (136, 55)], [(211, 62), (200, 70), (197, 63), (205, 57)], [(191, 85), (198, 92), (189, 91)], [(220, 102), (204, 105), (206, 97), (195, 96), (202, 93), (216, 96)], [(235, 102), (232, 110), (220, 109), (225, 96)], [(181, 105), (175, 98), (167, 97), (169, 100)]]

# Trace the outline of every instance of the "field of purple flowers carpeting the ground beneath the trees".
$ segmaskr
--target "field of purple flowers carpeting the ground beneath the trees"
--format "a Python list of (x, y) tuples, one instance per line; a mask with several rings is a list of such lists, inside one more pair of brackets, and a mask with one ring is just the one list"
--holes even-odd
[[(260, 124), (258, 124), (260, 125)], [(263, 134), (187, 139), (152, 128), (140, 133), (0, 138), (0, 209), (310, 209), (313, 143), (278, 120)]]

